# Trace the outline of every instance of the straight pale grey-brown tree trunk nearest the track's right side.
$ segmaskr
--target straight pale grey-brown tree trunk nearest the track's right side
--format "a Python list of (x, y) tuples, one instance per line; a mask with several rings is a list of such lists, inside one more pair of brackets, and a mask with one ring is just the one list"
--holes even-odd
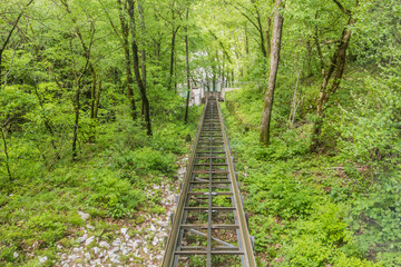
[(261, 135), (260, 141), (265, 146), (270, 145), (270, 123), (272, 119), (272, 109), (274, 100), (274, 90), (275, 82), (278, 71), (280, 63), (280, 49), (281, 49), (281, 39), (284, 18), (281, 13), (281, 8), (284, 8), (282, 0), (275, 1), (275, 14), (274, 14), (274, 29), (273, 29), (273, 40), (272, 40), (272, 53), (271, 53), (271, 68), (268, 76), (267, 90), (264, 96), (264, 105), (262, 112), (262, 122), (261, 122)]

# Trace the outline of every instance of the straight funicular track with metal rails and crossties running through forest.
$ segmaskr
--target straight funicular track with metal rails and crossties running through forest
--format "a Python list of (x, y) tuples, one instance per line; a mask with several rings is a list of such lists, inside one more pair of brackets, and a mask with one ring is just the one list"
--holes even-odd
[(206, 99), (163, 267), (256, 266), (223, 117)]

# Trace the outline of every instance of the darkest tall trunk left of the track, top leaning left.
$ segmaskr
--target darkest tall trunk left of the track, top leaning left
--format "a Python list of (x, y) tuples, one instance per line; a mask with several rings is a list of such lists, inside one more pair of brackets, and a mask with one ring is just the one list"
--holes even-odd
[(151, 136), (151, 122), (150, 122), (150, 107), (149, 107), (149, 100), (146, 96), (146, 87), (143, 82), (143, 79), (140, 77), (140, 71), (139, 71), (139, 56), (138, 56), (138, 44), (136, 42), (136, 24), (135, 24), (135, 17), (134, 17), (134, 10), (135, 10), (135, 4), (133, 0), (128, 0), (128, 13), (129, 13), (129, 18), (131, 21), (131, 36), (133, 36), (133, 42), (131, 42), (131, 47), (133, 47), (133, 59), (134, 59), (134, 73), (135, 73), (135, 79), (137, 81), (138, 88), (139, 88), (139, 93), (140, 93), (140, 98), (143, 101), (143, 107), (144, 107), (144, 117), (145, 117), (145, 122), (146, 122), (146, 129), (147, 129), (147, 135)]

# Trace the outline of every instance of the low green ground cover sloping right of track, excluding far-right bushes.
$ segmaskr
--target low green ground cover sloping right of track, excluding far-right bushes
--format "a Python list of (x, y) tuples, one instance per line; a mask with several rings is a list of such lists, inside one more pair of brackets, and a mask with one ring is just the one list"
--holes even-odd
[(399, 227), (387, 235), (376, 225), (389, 226), (387, 219), (393, 225), (400, 217), (383, 216), (391, 211), (375, 204), (384, 190), (372, 186), (371, 168), (344, 161), (341, 151), (311, 154), (307, 121), (297, 128), (273, 121), (273, 142), (261, 146), (255, 127), (261, 110), (257, 93), (246, 89), (229, 92), (223, 107), (261, 266), (400, 263), (397, 245), (383, 243), (400, 238)]

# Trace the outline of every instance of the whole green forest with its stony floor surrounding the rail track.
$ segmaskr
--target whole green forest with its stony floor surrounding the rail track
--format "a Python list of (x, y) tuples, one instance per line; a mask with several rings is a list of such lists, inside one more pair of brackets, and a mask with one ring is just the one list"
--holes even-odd
[(159, 266), (203, 83), (257, 266), (401, 266), (397, 0), (0, 1), (0, 266)]

